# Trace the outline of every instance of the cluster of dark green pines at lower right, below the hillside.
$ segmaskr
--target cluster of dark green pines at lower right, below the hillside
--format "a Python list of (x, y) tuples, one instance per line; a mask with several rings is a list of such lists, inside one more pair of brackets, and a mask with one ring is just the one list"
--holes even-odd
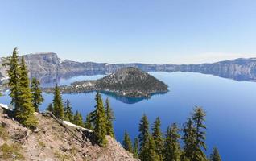
[(142, 161), (221, 161), (217, 147), (213, 148), (209, 158), (204, 153), (206, 151), (205, 116), (204, 110), (196, 107), (181, 129), (173, 123), (163, 134), (160, 118), (156, 118), (150, 128), (147, 116), (143, 114), (138, 126), (138, 137), (134, 138), (134, 145), (125, 130), (123, 147)]

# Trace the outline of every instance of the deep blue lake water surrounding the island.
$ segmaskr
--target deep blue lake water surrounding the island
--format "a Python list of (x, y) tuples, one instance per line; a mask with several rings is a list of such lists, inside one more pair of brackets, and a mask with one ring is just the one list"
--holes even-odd
[[(127, 99), (102, 93), (110, 98), (114, 109), (114, 129), (116, 138), (122, 142), (124, 130), (130, 137), (138, 136), (138, 123), (142, 114), (147, 114), (150, 122), (159, 116), (162, 129), (177, 122), (181, 127), (195, 105), (206, 111), (207, 146), (209, 154), (217, 146), (226, 161), (256, 160), (256, 83), (233, 81), (217, 76), (191, 72), (151, 72), (153, 76), (169, 85), (169, 93), (155, 95), (150, 99)], [(61, 79), (60, 85), (73, 81), (97, 79), (98, 76), (76, 76)], [(51, 86), (53, 83), (43, 86)], [(73, 111), (88, 114), (94, 109), (96, 93), (64, 94), (63, 99), (72, 103)], [(52, 94), (43, 94), (45, 101), (41, 110), (52, 102)], [(9, 104), (10, 98), (0, 97), (0, 102)]]

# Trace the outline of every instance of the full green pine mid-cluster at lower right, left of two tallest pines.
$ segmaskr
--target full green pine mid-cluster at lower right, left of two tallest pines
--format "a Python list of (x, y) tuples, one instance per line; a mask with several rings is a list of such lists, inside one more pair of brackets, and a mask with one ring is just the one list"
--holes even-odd
[(174, 123), (167, 128), (166, 139), (164, 142), (164, 161), (180, 161), (180, 134), (177, 125)]

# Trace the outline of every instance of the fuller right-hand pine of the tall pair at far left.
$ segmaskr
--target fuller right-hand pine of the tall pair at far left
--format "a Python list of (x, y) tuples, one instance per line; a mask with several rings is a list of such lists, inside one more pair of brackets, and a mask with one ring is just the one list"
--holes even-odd
[(19, 95), (17, 101), (19, 107), (15, 109), (15, 118), (17, 118), (23, 126), (35, 128), (38, 121), (34, 114), (35, 108), (32, 104), (31, 89), (29, 87), (29, 79), (24, 57), (22, 57), (20, 66)]

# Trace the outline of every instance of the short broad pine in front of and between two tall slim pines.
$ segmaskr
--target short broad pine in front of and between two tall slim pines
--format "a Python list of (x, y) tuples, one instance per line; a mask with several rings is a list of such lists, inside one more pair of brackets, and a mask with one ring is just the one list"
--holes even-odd
[(139, 154), (139, 159), (141, 159), (142, 161), (159, 161), (160, 157), (155, 151), (155, 141), (150, 134), (148, 135), (147, 141), (142, 147), (141, 153)]

